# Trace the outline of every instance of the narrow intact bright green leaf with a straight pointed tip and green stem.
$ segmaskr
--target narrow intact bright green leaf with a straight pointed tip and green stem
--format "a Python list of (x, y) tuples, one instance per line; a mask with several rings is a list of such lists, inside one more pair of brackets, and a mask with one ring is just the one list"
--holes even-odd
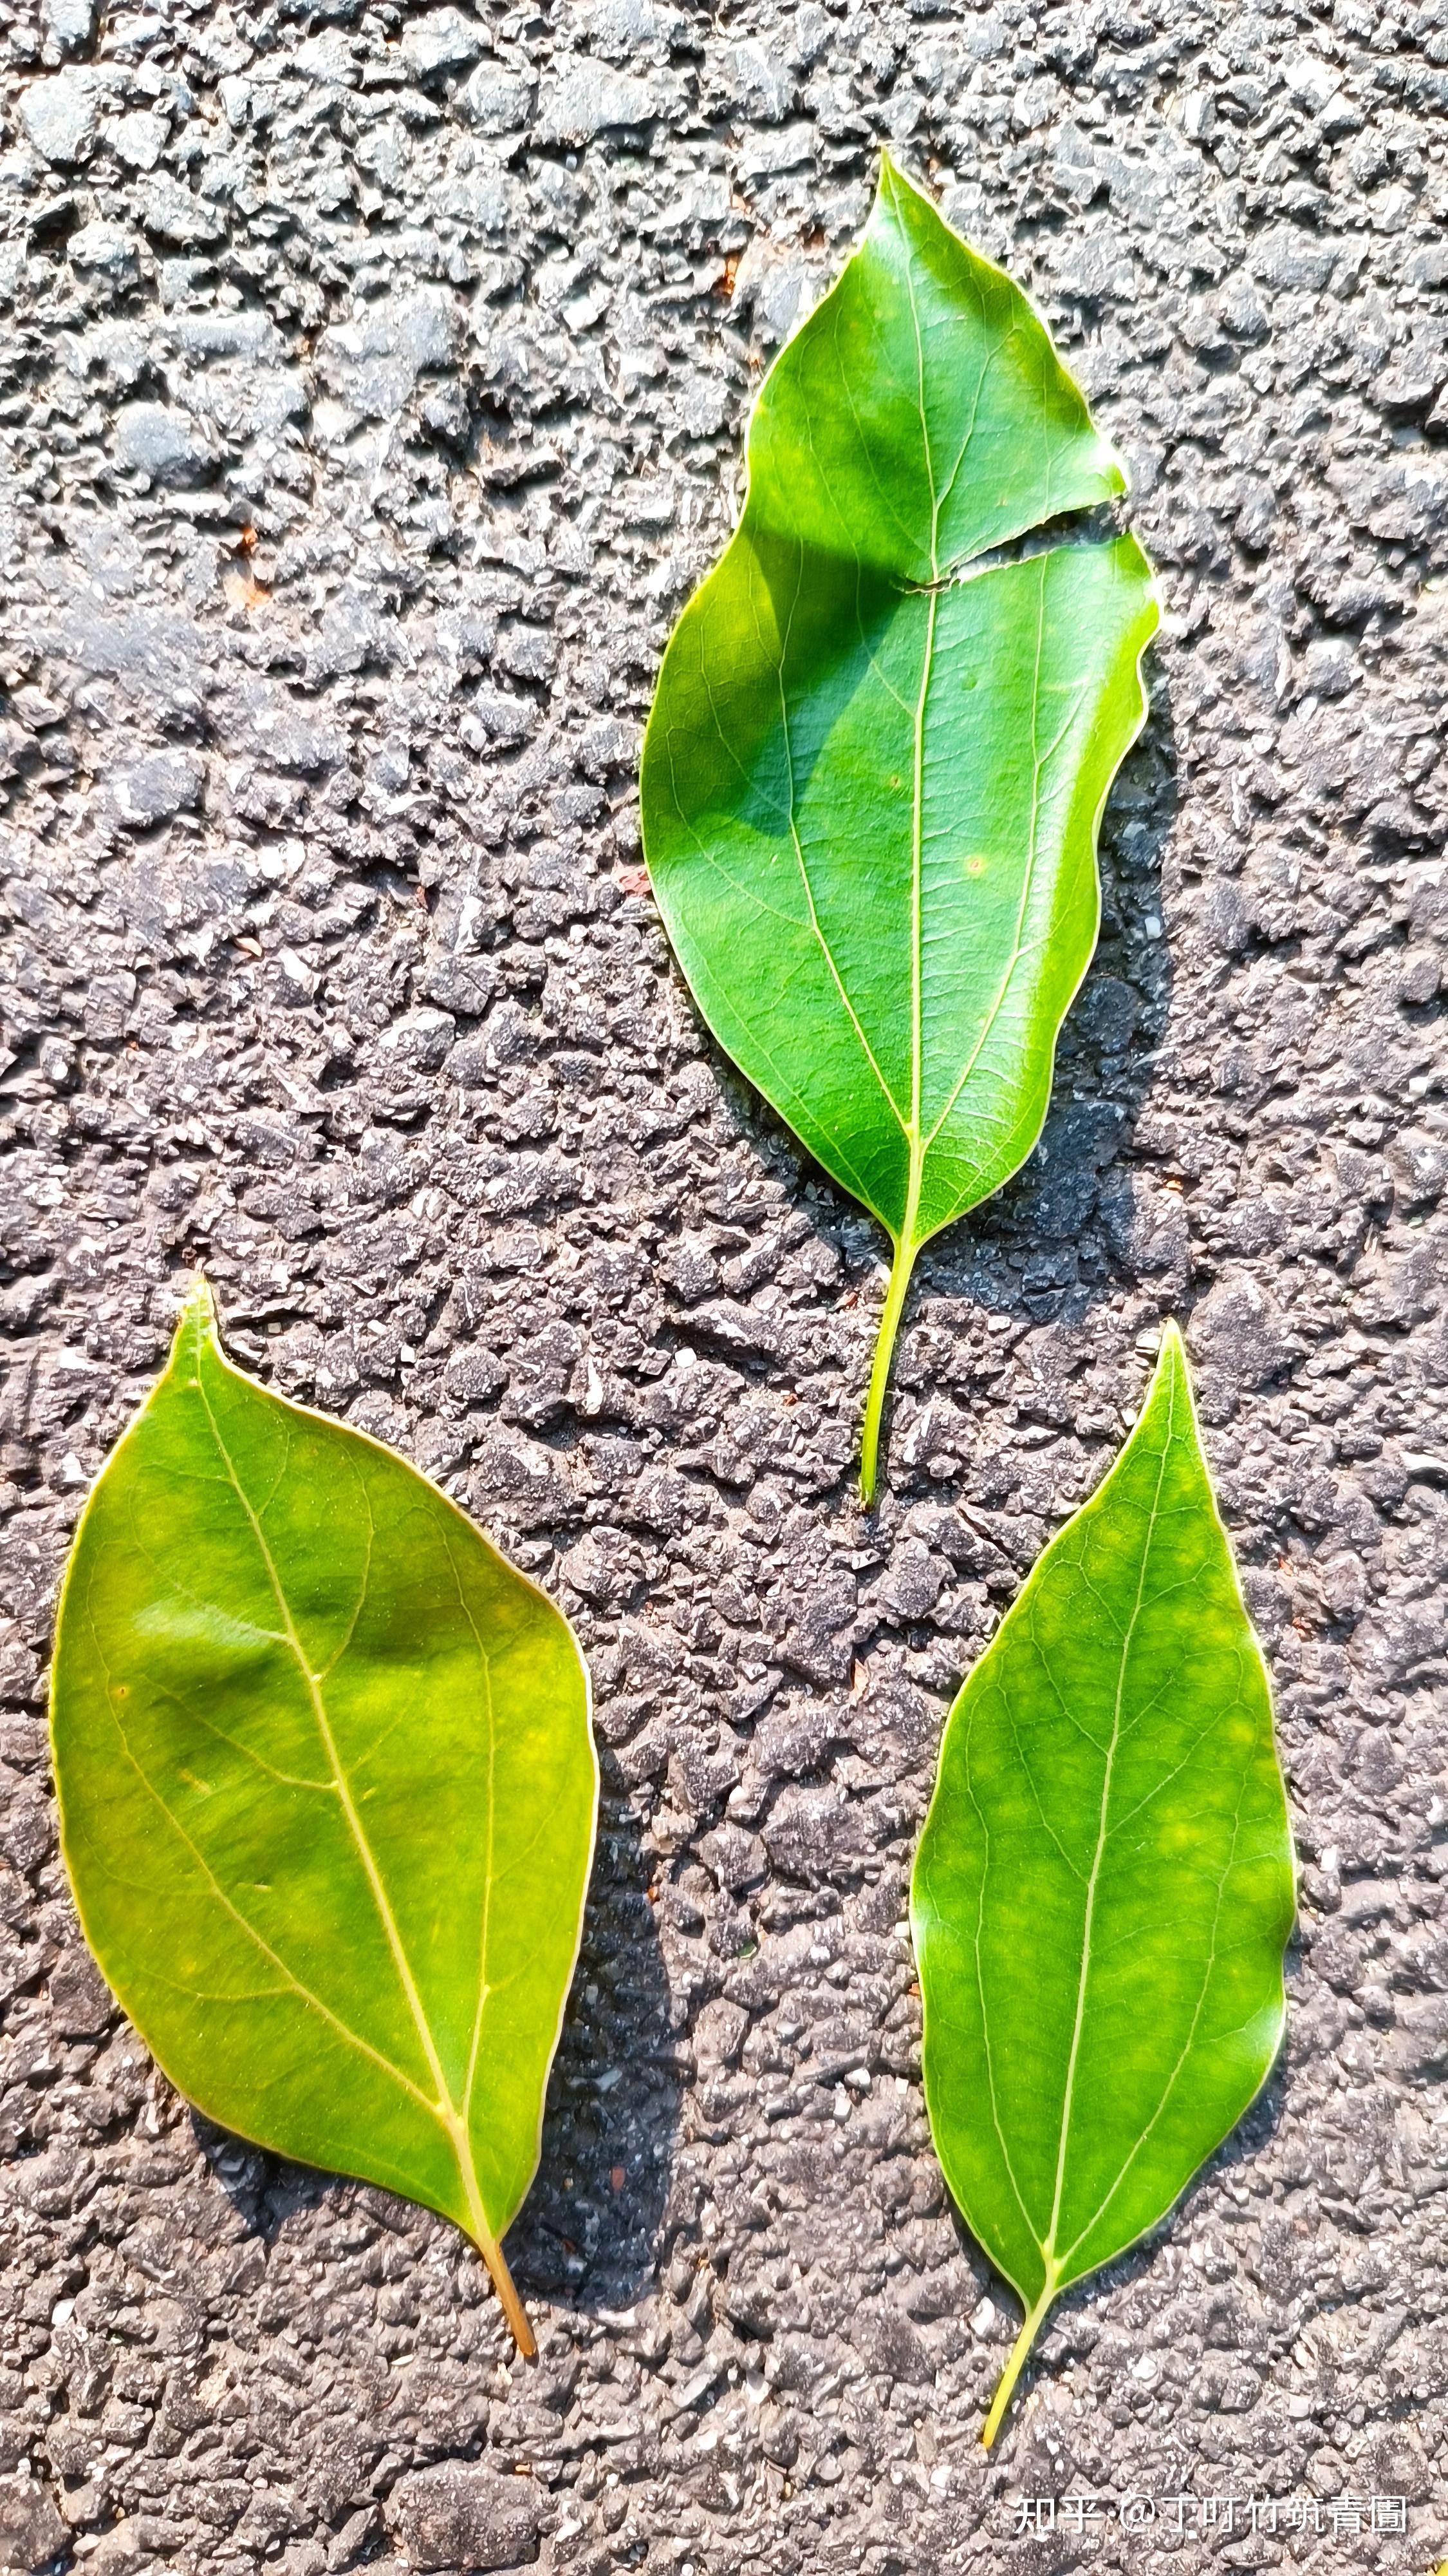
[(1025, 2326), (1152, 2228), (1283, 2035), (1262, 1654), (1167, 1327), (1141, 1419), (961, 1690), (912, 1883), (925, 2102)]

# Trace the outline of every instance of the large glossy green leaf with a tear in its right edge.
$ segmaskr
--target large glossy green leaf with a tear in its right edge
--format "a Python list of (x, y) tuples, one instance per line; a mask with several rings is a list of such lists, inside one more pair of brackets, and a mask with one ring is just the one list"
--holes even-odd
[(1095, 840), (1157, 626), (1131, 536), (982, 551), (1123, 492), (1025, 296), (886, 160), (770, 368), (729, 549), (644, 737), (649, 876), (734, 1064), (897, 1260), (1025, 1162), (1095, 948)]

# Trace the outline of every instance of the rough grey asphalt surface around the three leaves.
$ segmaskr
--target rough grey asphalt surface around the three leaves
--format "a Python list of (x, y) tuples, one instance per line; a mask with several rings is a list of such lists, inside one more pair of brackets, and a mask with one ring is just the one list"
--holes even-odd
[[(0, 0), (0, 2566), (1448, 2548), (1445, 26)], [(1167, 621), (1049, 1139), (920, 1265), (866, 1522), (881, 1239), (703, 1041), (634, 760), (881, 139), (1033, 286)], [(237, 1358), (466, 1497), (593, 1659), (536, 2370), (446, 2226), (178, 2105), (77, 1947), (49, 1610), (201, 1260)], [(1162, 1314), (1278, 1680), (1291, 2045), (987, 2465), (1015, 2311), (930, 2159), (904, 1878)], [(1177, 2488), (1345, 2527), (1013, 2537)]]

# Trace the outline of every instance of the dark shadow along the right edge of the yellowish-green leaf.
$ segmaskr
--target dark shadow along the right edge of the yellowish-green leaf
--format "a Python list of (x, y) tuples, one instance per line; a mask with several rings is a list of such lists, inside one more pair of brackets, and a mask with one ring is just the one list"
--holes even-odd
[(544, 2154), (508, 2262), (564, 2308), (624, 2308), (652, 2280), (683, 2115), (675, 2014), (634, 1803), (600, 1744), (582, 1950), (544, 2110)]

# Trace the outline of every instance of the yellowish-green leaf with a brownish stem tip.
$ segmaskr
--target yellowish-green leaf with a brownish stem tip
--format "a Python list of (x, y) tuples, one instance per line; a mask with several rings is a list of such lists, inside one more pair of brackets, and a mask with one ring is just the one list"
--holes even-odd
[(598, 1765), (559, 1610), (392, 1450), (255, 1386), (198, 1288), (75, 1533), (52, 1680), (85, 1937), (258, 2146), (500, 2239), (538, 2164)]

